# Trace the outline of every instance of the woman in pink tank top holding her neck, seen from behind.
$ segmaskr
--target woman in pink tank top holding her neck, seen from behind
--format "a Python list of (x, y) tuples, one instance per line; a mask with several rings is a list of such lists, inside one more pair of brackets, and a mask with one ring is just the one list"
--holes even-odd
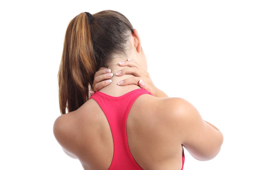
[[(146, 70), (139, 34), (121, 13), (85, 12), (70, 21), (53, 131), (84, 169), (180, 170), (183, 146), (198, 160), (219, 153), (221, 132), (188, 101), (156, 88)], [(97, 91), (91, 97), (90, 87)]]

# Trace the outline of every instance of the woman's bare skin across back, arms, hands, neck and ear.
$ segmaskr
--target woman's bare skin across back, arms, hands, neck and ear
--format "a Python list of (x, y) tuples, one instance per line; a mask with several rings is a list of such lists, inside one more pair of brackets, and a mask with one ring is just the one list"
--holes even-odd
[[(195, 159), (213, 159), (223, 142), (221, 132), (205, 122), (188, 101), (169, 98), (157, 89), (146, 71), (146, 58), (136, 30), (130, 41), (132, 52), (129, 58), (138, 65), (133, 63), (134, 66), (131, 66), (131, 61), (125, 61), (121, 66), (118, 62), (124, 61), (116, 58), (109, 68), (114, 73), (110, 77), (112, 82), (105, 82), (109, 77), (107, 73), (103, 74), (105, 69), (102, 69), (95, 76), (98, 77), (96, 82), (101, 85), (98, 84), (97, 89), (95, 83), (94, 88), (111, 96), (121, 96), (138, 88), (147, 88), (153, 94), (138, 97), (127, 118), (127, 140), (135, 161), (142, 169), (180, 170), (182, 146)], [(135, 65), (141, 68), (136, 70)], [(115, 74), (120, 70), (124, 75)], [(144, 82), (143, 86), (139, 83), (140, 79)], [(122, 80), (124, 83), (118, 85)], [(59, 116), (53, 131), (64, 152), (79, 159), (84, 169), (108, 169), (111, 165), (113, 138), (106, 116), (95, 100), (90, 99), (76, 111)]]

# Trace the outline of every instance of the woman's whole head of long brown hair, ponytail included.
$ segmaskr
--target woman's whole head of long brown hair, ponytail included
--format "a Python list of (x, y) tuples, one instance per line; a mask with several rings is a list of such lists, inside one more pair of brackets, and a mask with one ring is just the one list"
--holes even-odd
[(112, 10), (97, 12), (90, 20), (80, 13), (69, 22), (58, 72), (61, 114), (89, 100), (95, 72), (108, 68), (113, 55), (126, 55), (131, 32), (130, 21)]

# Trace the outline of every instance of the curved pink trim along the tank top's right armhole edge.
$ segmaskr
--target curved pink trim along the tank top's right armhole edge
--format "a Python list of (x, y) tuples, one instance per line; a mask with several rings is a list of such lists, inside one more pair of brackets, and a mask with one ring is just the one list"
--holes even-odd
[(128, 105), (126, 111), (125, 111), (125, 115), (124, 115), (124, 143), (125, 143), (125, 148), (126, 148), (126, 151), (132, 161), (132, 163), (140, 170), (143, 170), (140, 165), (135, 161), (135, 159), (133, 158), (132, 156), (132, 153), (129, 149), (129, 145), (128, 145), (128, 140), (127, 140), (127, 131), (126, 131), (126, 122), (127, 122), (127, 118), (128, 118), (128, 115), (129, 115), (129, 112), (131, 110), (131, 107), (133, 105), (133, 103), (135, 102), (135, 100), (138, 99), (138, 97), (140, 97), (142, 94), (149, 94), (150, 92), (148, 92), (147, 90), (145, 91), (141, 91), (139, 93), (137, 93), (131, 100), (130, 104)]

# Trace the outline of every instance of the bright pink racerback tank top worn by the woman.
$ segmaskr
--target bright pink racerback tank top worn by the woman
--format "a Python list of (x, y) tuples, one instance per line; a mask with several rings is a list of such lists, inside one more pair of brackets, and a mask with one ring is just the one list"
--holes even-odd
[[(96, 92), (90, 97), (97, 101), (106, 115), (113, 136), (114, 156), (108, 170), (142, 170), (132, 157), (126, 134), (127, 116), (134, 101), (142, 94), (152, 95), (145, 89), (135, 89), (119, 97), (109, 96), (103, 92)], [(183, 150), (181, 170), (184, 160)]]

